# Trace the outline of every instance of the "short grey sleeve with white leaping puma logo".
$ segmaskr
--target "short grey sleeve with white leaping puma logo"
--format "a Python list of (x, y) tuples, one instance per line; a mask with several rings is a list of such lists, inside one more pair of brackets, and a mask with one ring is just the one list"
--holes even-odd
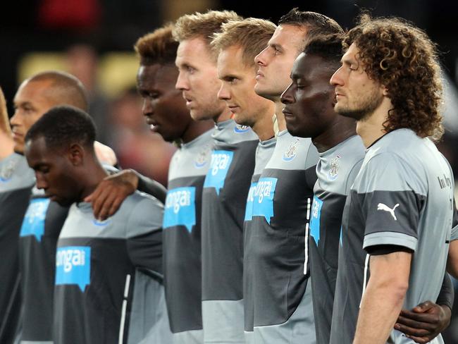
[(393, 154), (373, 156), (361, 170), (358, 193), (366, 214), (364, 249), (397, 245), (416, 250), (426, 189), (413, 168)]

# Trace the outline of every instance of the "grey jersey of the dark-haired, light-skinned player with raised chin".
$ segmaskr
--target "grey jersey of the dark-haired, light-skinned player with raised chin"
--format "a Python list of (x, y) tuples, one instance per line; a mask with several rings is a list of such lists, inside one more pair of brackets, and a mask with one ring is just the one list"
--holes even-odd
[(273, 326), (287, 322), (301, 302), (308, 302), (303, 300), (308, 279), (304, 274), (305, 236), (317, 161), (318, 152), (310, 139), (283, 131), (254, 191), (249, 228), (252, 242), (247, 247), (252, 288), (245, 297), (254, 302), (253, 312), (247, 316), (254, 319), (255, 341), (257, 331), (267, 343), (283, 343), (278, 340), (287, 336), (277, 333), (290, 331), (295, 340), (313, 343), (308, 341), (315, 336), (311, 307), (302, 313), (303, 324), (310, 326), (307, 330), (299, 330), (300, 321), (295, 331)]

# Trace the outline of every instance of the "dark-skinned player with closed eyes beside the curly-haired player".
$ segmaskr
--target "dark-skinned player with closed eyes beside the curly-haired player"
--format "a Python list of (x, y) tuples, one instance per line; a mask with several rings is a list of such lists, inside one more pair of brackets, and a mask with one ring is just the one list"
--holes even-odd
[[(341, 42), (340, 35), (309, 40), (292, 67), (292, 83), (282, 95), (288, 131), (292, 135), (311, 137), (320, 155), (311, 207), (309, 262), (316, 340), (323, 344), (329, 343), (342, 211), (365, 151), (361, 138), (356, 135), (356, 121), (339, 116), (333, 109), (334, 87), (329, 79), (340, 65)], [(446, 277), (445, 288), (440, 295), (445, 300), (438, 300), (440, 305), (442, 302), (445, 305), (443, 310), (432, 302), (425, 302), (430, 305), (430, 312), (442, 315), (438, 316), (440, 324), (428, 332), (424, 323), (434, 324), (434, 316), (427, 319), (428, 314), (420, 314), (423, 328), (416, 324), (417, 328), (413, 326), (411, 332), (406, 333), (416, 334), (415, 331), (420, 330), (423, 332), (422, 339), (427, 340), (435, 337), (448, 324), (450, 315), (447, 319), (445, 312), (450, 313), (453, 302), (446, 290), (451, 281)], [(426, 305), (421, 305), (421, 309), (424, 307)], [(412, 326), (414, 323), (411, 320), (416, 320), (415, 316), (411, 312), (405, 315), (410, 318), (406, 325)]]

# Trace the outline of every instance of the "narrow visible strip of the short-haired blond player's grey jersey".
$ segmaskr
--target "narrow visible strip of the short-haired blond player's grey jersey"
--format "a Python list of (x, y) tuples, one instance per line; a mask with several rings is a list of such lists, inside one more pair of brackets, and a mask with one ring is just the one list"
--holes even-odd
[[(253, 200), (254, 193), (256, 192), (256, 186), (258, 185), (259, 176), (261, 172), (266, 167), (266, 164), (271, 159), (273, 154), (273, 149), (276, 145), (276, 137), (272, 137), (269, 140), (261, 141), (258, 143), (256, 148), (256, 156), (254, 163), (254, 173), (252, 176), (252, 183), (249, 187), (249, 192), (247, 196), (247, 205), (245, 208), (245, 220), (243, 223), (244, 233), (243, 233), (243, 245), (244, 245), (244, 254), (243, 254), (243, 306), (244, 306), (244, 319), (245, 319), (245, 333), (253, 333), (253, 309), (254, 309), (254, 300), (252, 297), (247, 297), (249, 293), (252, 293), (253, 288), (253, 278), (254, 271), (251, 270), (252, 264), (249, 262), (252, 260), (251, 257), (251, 247), (254, 245), (254, 237), (252, 236), (252, 214), (253, 214)], [(247, 336), (250, 336), (249, 334)], [(249, 338), (246, 338), (247, 343), (249, 343)]]

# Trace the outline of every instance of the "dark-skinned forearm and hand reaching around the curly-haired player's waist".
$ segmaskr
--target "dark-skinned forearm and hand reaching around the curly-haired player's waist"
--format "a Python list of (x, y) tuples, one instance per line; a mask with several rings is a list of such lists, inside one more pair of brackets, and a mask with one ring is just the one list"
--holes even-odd
[(395, 328), (416, 343), (428, 343), (449, 326), (453, 302), (453, 283), (445, 273), (436, 303), (428, 300), (411, 310), (402, 309)]

